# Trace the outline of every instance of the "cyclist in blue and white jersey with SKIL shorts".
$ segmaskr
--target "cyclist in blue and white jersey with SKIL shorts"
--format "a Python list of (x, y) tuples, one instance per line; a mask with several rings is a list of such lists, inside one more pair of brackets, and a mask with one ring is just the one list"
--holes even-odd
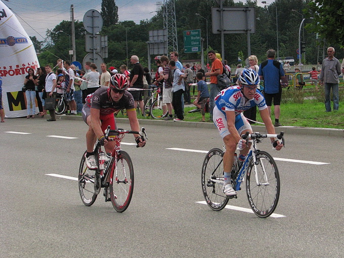
[[(262, 93), (257, 90), (260, 78), (252, 69), (244, 69), (237, 80), (238, 85), (222, 90), (216, 97), (216, 106), (213, 110), (213, 122), (218, 127), (221, 137), (226, 145), (223, 157), (224, 162), (224, 188), (227, 196), (236, 195), (237, 192), (231, 184), (231, 169), (234, 162), (234, 152), (238, 147), (241, 149), (241, 157), (246, 156), (249, 146), (241, 139), (242, 134), (252, 132), (252, 128), (243, 115), (243, 111), (258, 106), (259, 112), (269, 134), (275, 134), (268, 107)], [(275, 139), (271, 138), (274, 144)], [(276, 143), (275, 143), (276, 144)], [(282, 148), (278, 143), (277, 150)]]

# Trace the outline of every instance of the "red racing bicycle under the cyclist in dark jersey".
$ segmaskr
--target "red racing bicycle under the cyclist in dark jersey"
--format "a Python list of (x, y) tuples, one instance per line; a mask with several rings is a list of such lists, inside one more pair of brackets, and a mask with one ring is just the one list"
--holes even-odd
[[(94, 156), (97, 163), (96, 170), (87, 167), (85, 153), (83, 154), (79, 167), (79, 192), (82, 202), (91, 206), (104, 189), (105, 201), (108, 201), (108, 193), (113, 208), (117, 212), (124, 212), (132, 199), (134, 191), (134, 167), (129, 154), (121, 149), (121, 141), (125, 134), (140, 134), (142, 140), (147, 138), (145, 128), (140, 132), (127, 131), (123, 129), (110, 130), (110, 126), (105, 130), (105, 137), (116, 144), (111, 153), (102, 151), (102, 146), (98, 140), (94, 148)], [(138, 147), (139, 145), (137, 145)]]

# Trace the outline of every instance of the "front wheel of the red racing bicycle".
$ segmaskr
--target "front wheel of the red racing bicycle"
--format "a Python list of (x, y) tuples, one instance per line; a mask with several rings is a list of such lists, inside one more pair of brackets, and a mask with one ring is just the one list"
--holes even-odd
[[(117, 160), (110, 165), (110, 198), (117, 212), (124, 212), (132, 200), (134, 191), (134, 168), (129, 154), (121, 150)], [(116, 177), (117, 172), (117, 177)]]

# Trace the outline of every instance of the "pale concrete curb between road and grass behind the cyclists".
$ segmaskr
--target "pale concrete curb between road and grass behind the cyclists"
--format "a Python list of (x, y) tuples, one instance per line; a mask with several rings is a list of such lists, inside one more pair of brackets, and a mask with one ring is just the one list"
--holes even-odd
[[(56, 115), (61, 120), (81, 120), (81, 116), (66, 116)], [(116, 118), (120, 123), (128, 124), (127, 118)], [(140, 125), (159, 125), (159, 126), (175, 126), (175, 127), (189, 127), (189, 128), (206, 128), (216, 129), (213, 123), (203, 122), (174, 122), (174, 121), (163, 121), (163, 120), (151, 120), (151, 119), (139, 119)], [(255, 132), (265, 133), (265, 126), (252, 125), (252, 129)], [(332, 136), (332, 137), (344, 137), (344, 129), (332, 129), (332, 128), (313, 128), (313, 127), (297, 127), (297, 126), (280, 126), (275, 127), (276, 133), (283, 131), (286, 134), (299, 134), (299, 135), (316, 135), (316, 136)]]

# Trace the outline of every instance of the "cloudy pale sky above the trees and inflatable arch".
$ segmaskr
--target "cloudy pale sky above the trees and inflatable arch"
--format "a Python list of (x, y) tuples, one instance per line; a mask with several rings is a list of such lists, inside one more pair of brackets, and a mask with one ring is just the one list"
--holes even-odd
[[(3, 1), (12, 9), (29, 36), (44, 41), (47, 29), (53, 29), (61, 21), (70, 21), (70, 6), (74, 5), (74, 19), (82, 21), (85, 12), (91, 9), (101, 11), (102, 0), (9, 0)], [(186, 0), (187, 1), (187, 0)], [(116, 0), (119, 21), (150, 19), (157, 9), (156, 0)], [(163, 3), (163, 0), (161, 0)], [(242, 1), (243, 2), (243, 1)], [(267, 0), (267, 3), (273, 2)], [(260, 6), (261, 1), (258, 2)]]

